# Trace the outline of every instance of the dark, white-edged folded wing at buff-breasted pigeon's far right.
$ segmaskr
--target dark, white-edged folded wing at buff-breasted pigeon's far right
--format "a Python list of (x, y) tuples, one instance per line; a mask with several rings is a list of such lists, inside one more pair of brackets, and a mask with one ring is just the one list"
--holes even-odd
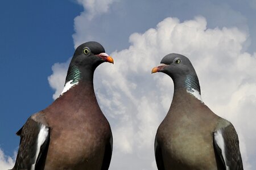
[(243, 169), (236, 130), (232, 124), (213, 133), (214, 150), (223, 166), (228, 169)]

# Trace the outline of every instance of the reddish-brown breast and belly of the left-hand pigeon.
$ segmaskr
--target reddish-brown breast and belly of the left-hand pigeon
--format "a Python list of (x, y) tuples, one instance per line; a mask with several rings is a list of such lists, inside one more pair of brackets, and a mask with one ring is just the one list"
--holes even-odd
[[(73, 169), (87, 167), (89, 164), (94, 166), (90, 165), (92, 169), (101, 169), (101, 164), (95, 162), (103, 160), (105, 145), (110, 142), (112, 134), (108, 121), (97, 105), (95, 95), (88, 94), (88, 91), (92, 90), (86, 89), (89, 88), (88, 86), (83, 87), (79, 84), (67, 91), (61, 98), (56, 99), (56, 105), (60, 108), (52, 105), (43, 111), (45, 114), (51, 114), (47, 116), (47, 122), (52, 125), (51, 141), (54, 141), (49, 142), (47, 157), (50, 159), (46, 159), (46, 169), (68, 167), (75, 162), (77, 167)], [(76, 95), (76, 100), (70, 101), (69, 104), (77, 109), (65, 107), (65, 100), (72, 99), (73, 95)], [(92, 105), (95, 107), (90, 107)], [(63, 115), (61, 119), (60, 114)], [(56, 121), (61, 124), (55, 124)], [(53, 164), (55, 167), (52, 167)]]

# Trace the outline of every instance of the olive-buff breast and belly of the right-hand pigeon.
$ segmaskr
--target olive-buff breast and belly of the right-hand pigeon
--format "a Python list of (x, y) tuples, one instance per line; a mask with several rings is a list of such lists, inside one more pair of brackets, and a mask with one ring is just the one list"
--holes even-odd
[[(162, 152), (163, 158), (172, 158), (164, 162), (170, 164), (167, 167), (174, 169), (188, 169), (186, 165), (189, 165), (189, 168), (214, 169), (217, 167), (216, 160), (210, 159), (214, 157), (212, 134), (213, 129), (218, 126), (217, 122), (222, 118), (211, 112), (206, 105), (202, 105), (200, 100), (192, 100), (192, 103), (181, 105), (183, 102), (179, 100), (183, 100), (182, 96), (188, 101), (193, 96), (188, 95), (187, 91), (181, 90), (178, 93), (179, 95), (174, 96), (170, 111), (158, 129), (156, 141), (161, 141), (162, 150), (170, 151)], [(189, 112), (191, 110), (194, 112)], [(205, 114), (199, 114), (200, 112)], [(201, 126), (205, 128), (202, 129)]]

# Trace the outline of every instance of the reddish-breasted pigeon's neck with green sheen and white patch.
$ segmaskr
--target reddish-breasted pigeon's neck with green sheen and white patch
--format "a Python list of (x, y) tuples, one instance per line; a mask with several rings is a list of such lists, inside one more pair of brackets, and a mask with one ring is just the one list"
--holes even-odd
[(81, 82), (86, 82), (88, 86), (92, 86), (93, 88), (93, 74), (94, 69), (92, 68), (85, 67), (84, 70), (80, 70), (79, 67), (75, 65), (69, 66), (65, 85), (61, 95)]

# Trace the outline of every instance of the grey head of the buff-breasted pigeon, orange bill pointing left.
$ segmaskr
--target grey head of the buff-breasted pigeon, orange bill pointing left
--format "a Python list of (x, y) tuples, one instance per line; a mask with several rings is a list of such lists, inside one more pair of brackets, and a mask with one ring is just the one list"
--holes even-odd
[(154, 67), (151, 73), (162, 72), (171, 76), (176, 88), (195, 89), (200, 93), (199, 80), (189, 59), (181, 54), (171, 53), (165, 56), (161, 64)]

